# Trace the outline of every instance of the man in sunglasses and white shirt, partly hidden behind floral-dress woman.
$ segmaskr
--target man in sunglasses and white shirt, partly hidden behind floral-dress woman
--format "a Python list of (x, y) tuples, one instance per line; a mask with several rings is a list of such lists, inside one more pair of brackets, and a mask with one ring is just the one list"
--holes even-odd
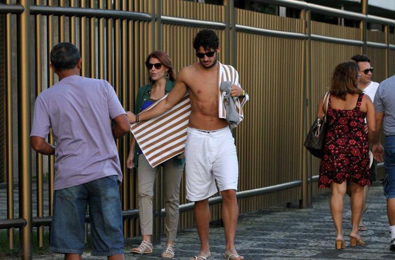
[[(360, 75), (361, 77), (358, 79), (358, 88), (360, 88), (366, 95), (369, 96), (369, 98), (374, 101), (374, 96), (376, 95), (377, 88), (379, 87), (379, 83), (371, 81), (372, 78), (372, 73), (373, 73), (373, 67), (370, 65), (370, 59), (367, 57), (365, 54), (356, 54), (353, 57), (351, 57), (351, 60), (355, 61), (356, 64), (358, 65), (358, 69), (360, 70)], [(366, 123), (366, 119), (365, 119)], [(365, 131), (368, 131), (368, 127), (366, 125)], [(376, 168), (377, 161), (373, 160), (372, 165), (370, 166), (369, 170), (369, 180), (370, 183), (373, 183), (373, 181), (376, 180), (376, 173), (375, 173), (375, 168)], [(347, 190), (347, 194), (350, 195), (349, 191)], [(366, 205), (366, 199), (368, 198), (369, 194), (369, 186), (365, 185), (364, 187), (364, 211), (368, 209), (368, 206)], [(364, 222), (362, 220), (363, 215), (361, 216), (360, 223), (358, 224), (358, 229), (360, 231), (365, 231), (367, 228), (364, 225)]]

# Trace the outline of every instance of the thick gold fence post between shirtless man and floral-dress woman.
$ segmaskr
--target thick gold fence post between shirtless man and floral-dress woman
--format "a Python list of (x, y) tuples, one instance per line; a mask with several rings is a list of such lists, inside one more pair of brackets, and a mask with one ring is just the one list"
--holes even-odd
[[(304, 40), (303, 46), (303, 131), (307, 133), (309, 127), (309, 118), (311, 118), (311, 11), (309, 9), (302, 10), (300, 17), (304, 20), (304, 29), (308, 38)], [(308, 155), (306, 149), (303, 149), (303, 168), (302, 168), (302, 199), (300, 201), (301, 208), (308, 208), (312, 205), (312, 170), (311, 156)], [(309, 182), (310, 178), (310, 182)]]

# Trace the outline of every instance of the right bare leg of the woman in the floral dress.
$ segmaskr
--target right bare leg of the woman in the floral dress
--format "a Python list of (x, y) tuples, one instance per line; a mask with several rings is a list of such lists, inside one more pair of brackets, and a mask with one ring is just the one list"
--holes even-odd
[(362, 216), (362, 210), (364, 207), (364, 187), (358, 183), (350, 181), (351, 189), (351, 222), (352, 230), (350, 233), (351, 237), (360, 238), (358, 223)]

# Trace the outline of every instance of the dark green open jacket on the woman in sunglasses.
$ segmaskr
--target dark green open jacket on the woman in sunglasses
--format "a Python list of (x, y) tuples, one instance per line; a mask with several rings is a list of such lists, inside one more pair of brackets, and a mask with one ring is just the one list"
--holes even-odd
[[(151, 87), (152, 84), (147, 84), (147, 85), (143, 85), (138, 89), (137, 92), (137, 98), (136, 98), (136, 103), (134, 106), (134, 114), (137, 115), (138, 113), (140, 113), (140, 109), (142, 104), (150, 98), (151, 95)], [(165, 86), (165, 94), (168, 94), (170, 92), (170, 90), (172, 90), (174, 87), (174, 82), (168, 80), (166, 82), (166, 86)], [(134, 148), (134, 166), (137, 168), (138, 166), (138, 153), (140, 152), (140, 147), (138, 146), (137, 142), (136, 142), (136, 146)], [(172, 158), (174, 165), (183, 165), (185, 163), (185, 158), (182, 159), (178, 159), (177, 158), (178, 155), (174, 156)]]

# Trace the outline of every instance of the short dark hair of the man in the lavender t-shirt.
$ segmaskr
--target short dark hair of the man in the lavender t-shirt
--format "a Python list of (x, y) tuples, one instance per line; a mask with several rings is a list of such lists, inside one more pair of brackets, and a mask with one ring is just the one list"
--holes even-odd
[(74, 69), (80, 58), (80, 51), (71, 43), (58, 43), (51, 50), (51, 64), (58, 71)]

